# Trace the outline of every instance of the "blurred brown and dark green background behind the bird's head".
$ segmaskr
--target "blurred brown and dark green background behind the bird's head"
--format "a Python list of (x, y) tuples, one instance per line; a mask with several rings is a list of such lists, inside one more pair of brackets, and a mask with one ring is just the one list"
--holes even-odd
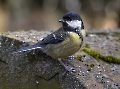
[(56, 30), (71, 10), (86, 29), (120, 28), (120, 0), (0, 0), (0, 31)]

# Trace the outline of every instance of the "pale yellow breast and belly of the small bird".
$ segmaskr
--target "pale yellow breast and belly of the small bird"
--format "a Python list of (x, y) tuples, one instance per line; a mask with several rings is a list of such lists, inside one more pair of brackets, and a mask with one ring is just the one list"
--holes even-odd
[(67, 32), (66, 39), (58, 44), (49, 44), (45, 51), (54, 59), (66, 58), (76, 53), (82, 44), (82, 40), (75, 32)]

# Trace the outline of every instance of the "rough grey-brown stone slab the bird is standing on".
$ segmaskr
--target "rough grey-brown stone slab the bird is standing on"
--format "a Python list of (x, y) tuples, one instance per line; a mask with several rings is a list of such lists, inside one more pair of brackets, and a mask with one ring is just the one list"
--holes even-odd
[[(88, 31), (84, 45), (89, 44), (91, 49), (103, 55), (119, 58), (120, 36), (116, 36), (114, 32), (119, 33), (119, 30)], [(64, 76), (65, 70), (60, 63), (40, 49), (12, 54), (23, 46), (37, 43), (50, 33), (31, 30), (1, 34), (0, 89), (120, 88), (120, 65), (95, 60), (82, 51), (77, 52), (75, 58), (63, 61), (68, 68), (75, 69), (75, 72), (67, 72)], [(105, 35), (100, 33), (105, 33)], [(78, 55), (82, 55), (81, 60), (76, 58)]]

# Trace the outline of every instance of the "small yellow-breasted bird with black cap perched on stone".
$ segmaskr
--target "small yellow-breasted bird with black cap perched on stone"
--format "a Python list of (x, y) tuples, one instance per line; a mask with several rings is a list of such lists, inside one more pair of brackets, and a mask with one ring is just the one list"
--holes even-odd
[(68, 70), (62, 60), (75, 54), (81, 48), (85, 37), (84, 24), (80, 15), (74, 11), (65, 13), (59, 22), (62, 23), (62, 27), (57, 31), (38, 43), (20, 48), (13, 53), (43, 49), (47, 55), (57, 59)]

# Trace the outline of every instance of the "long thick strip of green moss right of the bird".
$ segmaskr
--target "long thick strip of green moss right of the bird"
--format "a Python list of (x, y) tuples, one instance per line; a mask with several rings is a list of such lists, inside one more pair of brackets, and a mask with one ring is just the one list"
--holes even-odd
[(90, 56), (94, 57), (96, 60), (104, 60), (108, 63), (115, 63), (115, 64), (120, 64), (120, 58), (108, 55), (108, 56), (104, 56), (102, 54), (100, 54), (97, 51), (91, 50), (89, 48), (83, 48), (82, 49), (85, 53), (89, 54)]

